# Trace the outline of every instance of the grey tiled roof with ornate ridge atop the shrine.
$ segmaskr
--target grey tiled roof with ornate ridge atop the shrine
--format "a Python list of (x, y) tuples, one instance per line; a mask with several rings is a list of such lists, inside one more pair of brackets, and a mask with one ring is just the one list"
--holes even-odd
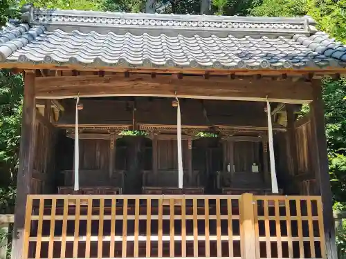
[(309, 17), (49, 11), (0, 30), (0, 61), (56, 65), (287, 69), (346, 67), (346, 46)]

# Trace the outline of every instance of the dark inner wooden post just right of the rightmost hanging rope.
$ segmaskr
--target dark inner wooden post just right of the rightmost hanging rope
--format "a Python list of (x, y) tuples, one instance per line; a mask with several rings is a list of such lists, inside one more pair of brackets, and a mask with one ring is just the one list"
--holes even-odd
[(298, 171), (298, 157), (297, 157), (297, 142), (295, 139), (295, 116), (294, 116), (294, 107), (292, 104), (286, 104), (286, 113), (287, 113), (287, 137), (289, 145), (289, 160), (287, 161), (289, 164), (289, 169), (291, 175), (297, 174)]

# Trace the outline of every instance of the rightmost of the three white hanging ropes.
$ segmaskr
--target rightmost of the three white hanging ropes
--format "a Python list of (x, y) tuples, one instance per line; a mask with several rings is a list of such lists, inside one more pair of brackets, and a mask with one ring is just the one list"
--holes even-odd
[(279, 188), (277, 186), (277, 179), (276, 179), (276, 171), (275, 171), (273, 125), (271, 123), (271, 104), (269, 104), (269, 102), (268, 102), (268, 96), (266, 96), (266, 114), (268, 117), (269, 159), (271, 161), (271, 192), (272, 193), (279, 193)]

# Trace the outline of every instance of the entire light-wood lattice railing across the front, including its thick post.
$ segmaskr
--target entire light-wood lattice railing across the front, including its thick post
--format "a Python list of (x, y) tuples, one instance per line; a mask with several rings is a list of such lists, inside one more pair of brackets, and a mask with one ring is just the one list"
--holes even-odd
[(320, 203), (251, 193), (28, 195), (23, 258), (326, 258)]

